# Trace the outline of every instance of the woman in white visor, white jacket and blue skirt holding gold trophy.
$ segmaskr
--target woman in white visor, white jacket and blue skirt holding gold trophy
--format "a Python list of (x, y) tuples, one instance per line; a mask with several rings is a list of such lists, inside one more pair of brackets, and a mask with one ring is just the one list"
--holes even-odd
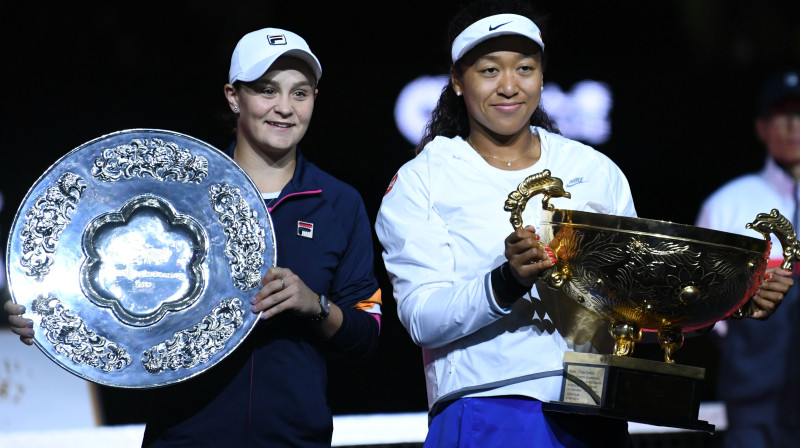
[(375, 226), (398, 316), (423, 348), (425, 446), (626, 446), (623, 420), (542, 412), (559, 399), (564, 352), (602, 336), (576, 336), (576, 310), (534, 285), (553, 254), (533, 227), (511, 232), (503, 204), (549, 169), (571, 193), (555, 207), (635, 216), (628, 182), (542, 109), (545, 44), (530, 5), (467, 6), (449, 36), (450, 83)]

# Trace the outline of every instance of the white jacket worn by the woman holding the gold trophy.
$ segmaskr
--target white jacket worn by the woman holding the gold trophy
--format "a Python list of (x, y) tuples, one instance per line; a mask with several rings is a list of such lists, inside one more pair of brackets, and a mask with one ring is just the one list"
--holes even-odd
[[(519, 300), (510, 309), (493, 299), (489, 273), (506, 261), (504, 240), (513, 231), (503, 205), (520, 182), (549, 169), (572, 195), (552, 199), (556, 208), (636, 214), (627, 179), (608, 157), (543, 129), (531, 130), (539, 134), (541, 157), (529, 168), (494, 168), (463, 139), (437, 137), (400, 168), (383, 198), (375, 229), (398, 316), (423, 347), (429, 406), (445, 395), (506, 380), (512, 384), (470, 395), (558, 399), (560, 376), (513, 379), (560, 371), (564, 351), (585, 342), (559, 333), (559, 323), (571, 317), (561, 315), (563, 300), (542, 300), (552, 296), (546, 287), (537, 285), (530, 301)], [(540, 204), (541, 197), (531, 199), (524, 225), (536, 226)]]

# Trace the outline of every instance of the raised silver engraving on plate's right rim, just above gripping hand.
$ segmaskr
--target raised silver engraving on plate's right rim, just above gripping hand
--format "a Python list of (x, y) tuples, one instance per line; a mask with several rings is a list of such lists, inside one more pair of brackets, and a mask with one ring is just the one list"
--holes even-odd
[(266, 250), (265, 232), (258, 213), (250, 210), (238, 188), (228, 184), (211, 186), (211, 204), (224, 229), (225, 255), (234, 285), (242, 291), (257, 287)]

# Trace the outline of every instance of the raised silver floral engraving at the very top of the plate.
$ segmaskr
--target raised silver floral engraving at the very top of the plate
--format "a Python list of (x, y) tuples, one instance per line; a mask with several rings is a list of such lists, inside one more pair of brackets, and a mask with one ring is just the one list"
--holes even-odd
[(192, 155), (176, 143), (137, 138), (129, 145), (103, 150), (94, 160), (92, 176), (105, 182), (152, 177), (160, 181), (197, 183), (208, 176), (208, 159)]

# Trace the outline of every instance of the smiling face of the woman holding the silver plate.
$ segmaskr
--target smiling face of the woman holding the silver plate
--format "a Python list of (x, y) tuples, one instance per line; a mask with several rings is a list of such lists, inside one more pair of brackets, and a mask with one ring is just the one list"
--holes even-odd
[(238, 108), (237, 138), (279, 158), (293, 151), (308, 130), (317, 89), (308, 65), (282, 57), (257, 80), (238, 88), (226, 85), (225, 93), (231, 108)]

